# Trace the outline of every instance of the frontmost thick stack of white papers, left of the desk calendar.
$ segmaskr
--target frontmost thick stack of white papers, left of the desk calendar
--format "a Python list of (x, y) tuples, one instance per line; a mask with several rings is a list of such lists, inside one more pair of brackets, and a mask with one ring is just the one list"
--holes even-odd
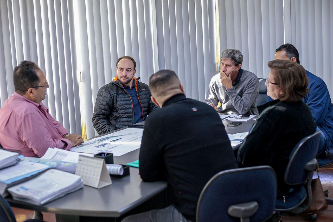
[(34, 179), (8, 189), (14, 200), (42, 205), (83, 187), (75, 174), (51, 169)]

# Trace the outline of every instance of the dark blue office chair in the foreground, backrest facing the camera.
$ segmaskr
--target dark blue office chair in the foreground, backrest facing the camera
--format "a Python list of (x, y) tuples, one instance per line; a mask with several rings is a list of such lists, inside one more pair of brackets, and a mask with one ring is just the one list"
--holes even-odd
[(273, 214), (276, 192), (270, 166), (219, 172), (201, 191), (196, 221), (266, 221)]

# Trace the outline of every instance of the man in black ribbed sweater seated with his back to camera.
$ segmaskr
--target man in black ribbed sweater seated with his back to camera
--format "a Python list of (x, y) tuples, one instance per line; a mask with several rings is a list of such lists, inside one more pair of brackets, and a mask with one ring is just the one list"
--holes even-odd
[(143, 181), (167, 180), (174, 205), (129, 216), (129, 221), (195, 221), (201, 190), (216, 173), (237, 168), (217, 112), (184, 95), (171, 70), (160, 70), (149, 80), (152, 101), (162, 109), (146, 120), (139, 155)]

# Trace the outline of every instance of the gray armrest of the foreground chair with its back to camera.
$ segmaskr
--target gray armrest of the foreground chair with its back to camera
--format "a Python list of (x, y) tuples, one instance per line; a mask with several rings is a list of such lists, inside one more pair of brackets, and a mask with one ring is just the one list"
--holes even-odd
[(237, 218), (250, 217), (257, 212), (259, 205), (256, 201), (231, 205), (228, 214)]

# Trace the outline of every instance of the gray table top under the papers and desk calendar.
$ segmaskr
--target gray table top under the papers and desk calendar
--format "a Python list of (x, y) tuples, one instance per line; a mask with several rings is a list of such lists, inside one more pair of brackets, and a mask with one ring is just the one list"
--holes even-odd
[[(222, 121), (229, 134), (248, 132), (254, 120), (243, 122), (238, 126), (227, 126)], [(120, 157), (114, 157), (114, 162), (126, 164), (139, 158), (139, 149)], [(119, 217), (136, 206), (164, 191), (166, 181), (143, 182), (138, 175), (139, 169), (130, 167), (130, 175), (122, 178), (112, 177), (112, 184), (100, 189), (84, 186), (83, 189), (67, 194), (57, 200), (37, 206), (12, 198), (6, 198), (12, 206), (31, 210), (52, 212), (56, 214)]]

